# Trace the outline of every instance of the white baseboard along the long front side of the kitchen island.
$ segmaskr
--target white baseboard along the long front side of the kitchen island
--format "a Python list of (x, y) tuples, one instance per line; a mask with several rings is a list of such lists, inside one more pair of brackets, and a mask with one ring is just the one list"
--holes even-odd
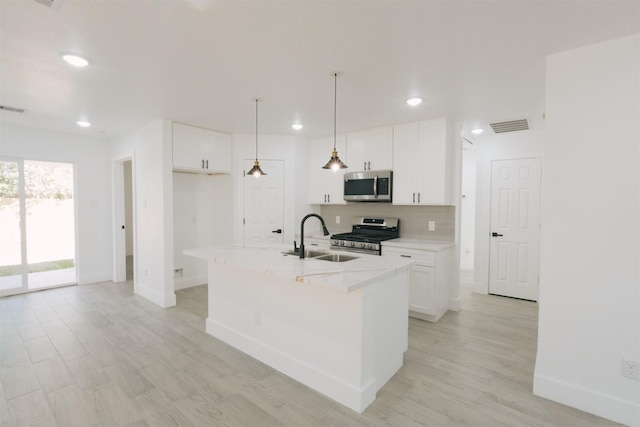
[(316, 366), (309, 365), (303, 360), (285, 354), (215, 320), (207, 318), (206, 329), (208, 334), (358, 413), (362, 413), (376, 398), (375, 380), (368, 381), (361, 387), (347, 384)]

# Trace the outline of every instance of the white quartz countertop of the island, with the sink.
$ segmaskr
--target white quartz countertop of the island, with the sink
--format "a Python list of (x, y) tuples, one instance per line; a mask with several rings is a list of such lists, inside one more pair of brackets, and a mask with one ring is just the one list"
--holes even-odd
[(326, 250), (324, 252), (358, 258), (345, 262), (330, 262), (313, 258), (300, 259), (297, 256), (282, 253), (290, 249), (282, 246), (220, 246), (186, 249), (184, 254), (238, 268), (264, 271), (265, 274), (341, 292), (360, 289), (394, 275), (398, 271), (408, 269), (413, 264), (413, 261), (405, 258), (344, 251)]

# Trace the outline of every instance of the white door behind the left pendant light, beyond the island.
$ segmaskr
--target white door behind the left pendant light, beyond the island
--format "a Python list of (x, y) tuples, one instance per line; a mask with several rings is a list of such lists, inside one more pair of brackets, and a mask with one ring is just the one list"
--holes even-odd
[[(254, 160), (244, 161), (244, 171)], [(244, 244), (284, 243), (284, 161), (260, 160), (266, 175), (244, 177)]]

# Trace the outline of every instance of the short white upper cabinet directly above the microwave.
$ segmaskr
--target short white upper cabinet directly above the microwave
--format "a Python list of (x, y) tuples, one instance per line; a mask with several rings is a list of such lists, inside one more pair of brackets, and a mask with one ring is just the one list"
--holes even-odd
[(347, 135), (349, 170), (380, 170), (393, 167), (393, 128), (391, 126)]

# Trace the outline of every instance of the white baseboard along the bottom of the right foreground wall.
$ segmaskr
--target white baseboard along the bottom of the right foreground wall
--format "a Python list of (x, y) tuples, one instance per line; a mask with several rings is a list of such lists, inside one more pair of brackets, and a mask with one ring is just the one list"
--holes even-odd
[(640, 402), (622, 400), (575, 384), (536, 374), (533, 394), (632, 427), (640, 427)]

